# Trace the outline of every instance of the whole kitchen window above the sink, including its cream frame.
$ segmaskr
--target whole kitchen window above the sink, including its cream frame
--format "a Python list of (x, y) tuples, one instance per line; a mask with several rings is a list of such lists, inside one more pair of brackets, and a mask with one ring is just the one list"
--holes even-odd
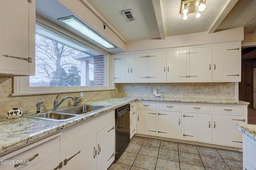
[(35, 64), (35, 76), (15, 77), (17, 95), (114, 89), (110, 54), (52, 25), (37, 22)]

